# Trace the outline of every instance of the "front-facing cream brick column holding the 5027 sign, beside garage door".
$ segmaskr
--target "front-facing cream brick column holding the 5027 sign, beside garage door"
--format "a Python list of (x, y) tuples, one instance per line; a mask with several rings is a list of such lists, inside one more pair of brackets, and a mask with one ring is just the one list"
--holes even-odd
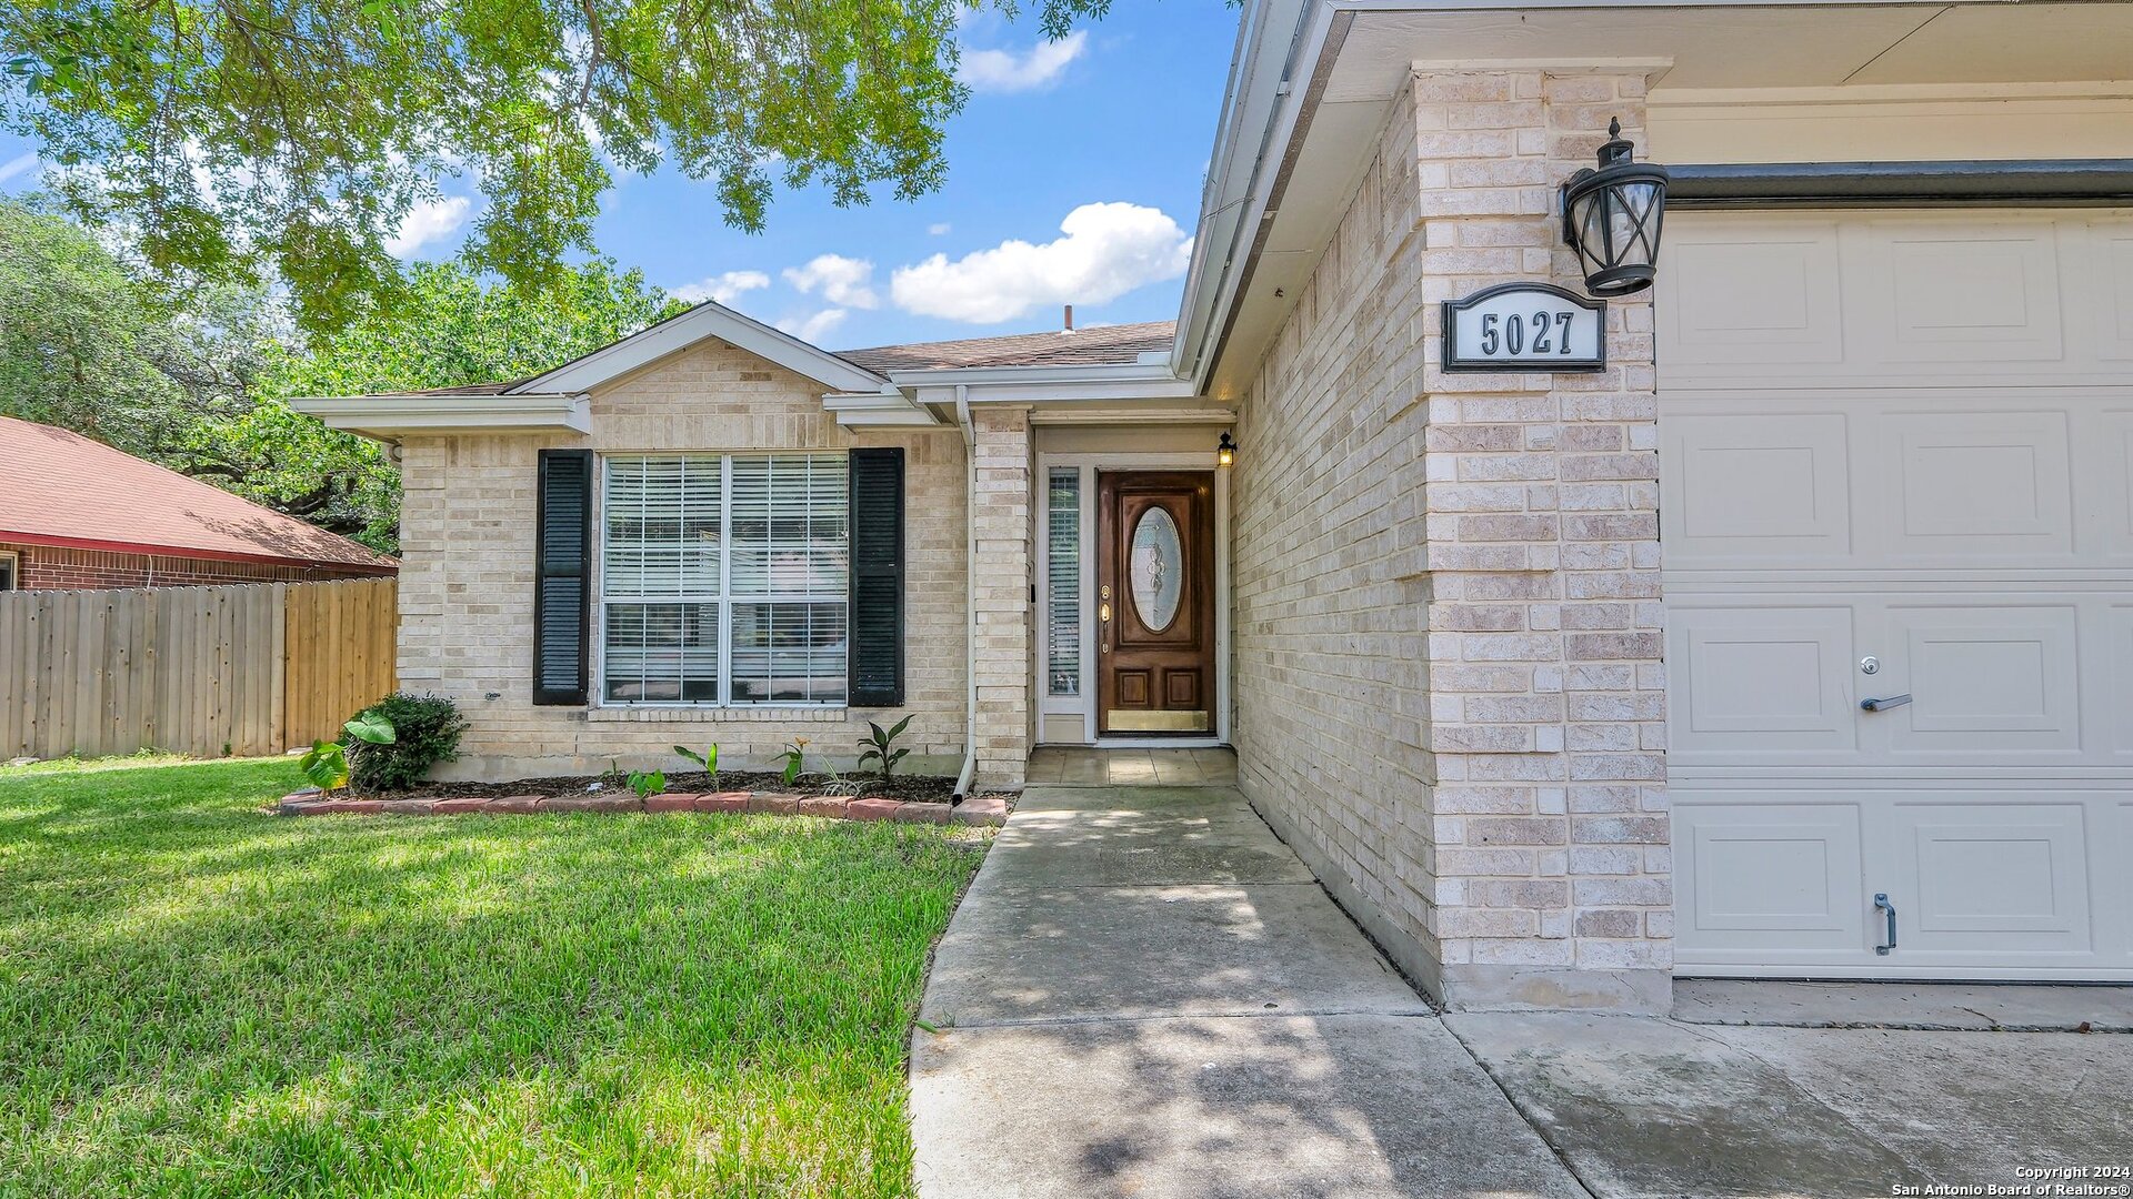
[(1431, 932), (1457, 1005), (1664, 1009), (1672, 969), (1651, 303), (1606, 311), (1604, 373), (1446, 375), (1438, 301), (1583, 292), (1555, 188), (1645, 75), (1416, 79)]

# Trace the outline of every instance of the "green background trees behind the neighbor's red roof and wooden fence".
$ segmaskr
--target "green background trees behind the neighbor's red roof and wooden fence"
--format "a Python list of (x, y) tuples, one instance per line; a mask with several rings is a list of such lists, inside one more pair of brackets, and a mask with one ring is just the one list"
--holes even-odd
[(375, 442), (284, 403), (501, 382), (680, 311), (638, 271), (565, 267), (546, 292), (459, 265), (405, 303), (301, 335), (264, 288), (164, 292), (64, 218), (0, 203), (0, 414), (87, 433), (277, 512), (399, 548), (399, 471)]

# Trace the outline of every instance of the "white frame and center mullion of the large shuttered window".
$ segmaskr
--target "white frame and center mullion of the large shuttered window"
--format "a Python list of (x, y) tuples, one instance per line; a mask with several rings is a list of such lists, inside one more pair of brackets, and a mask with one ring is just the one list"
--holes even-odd
[[(734, 621), (732, 621), (732, 580), (734, 580), (734, 555), (729, 544), (729, 533), (734, 529), (734, 459), (736, 457), (776, 457), (776, 454), (813, 454), (813, 457), (843, 457), (849, 467), (849, 452), (845, 450), (597, 450), (593, 454), (593, 546), (591, 546), (591, 629), (593, 653), (589, 655), (589, 708), (612, 708), (619, 713), (676, 713), (680, 719), (700, 719), (702, 713), (721, 713), (721, 719), (747, 721), (749, 715), (761, 715), (766, 721), (779, 719), (779, 713), (840, 713), (851, 706), (851, 587), (847, 574), (845, 589), (845, 700), (838, 702), (808, 702), (808, 700), (766, 700), (759, 704), (734, 704)], [(608, 700), (608, 459), (719, 459), (719, 698), (717, 700)], [(851, 510), (845, 510), (845, 570), (851, 570)]]

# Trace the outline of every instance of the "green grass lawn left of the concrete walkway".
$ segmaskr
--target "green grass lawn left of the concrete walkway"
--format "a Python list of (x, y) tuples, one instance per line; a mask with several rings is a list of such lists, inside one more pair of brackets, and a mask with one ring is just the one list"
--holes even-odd
[(0, 768), (0, 1195), (907, 1195), (979, 849), (723, 815), (269, 817)]

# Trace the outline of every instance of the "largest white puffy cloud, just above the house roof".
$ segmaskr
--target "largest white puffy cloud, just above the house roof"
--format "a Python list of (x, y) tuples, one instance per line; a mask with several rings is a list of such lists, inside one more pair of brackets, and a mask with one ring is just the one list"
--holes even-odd
[(949, 262), (934, 254), (889, 277), (896, 307), (973, 324), (1015, 320), (1056, 303), (1105, 303), (1186, 273), (1192, 239), (1160, 209), (1081, 205), (1054, 241), (1003, 241)]

